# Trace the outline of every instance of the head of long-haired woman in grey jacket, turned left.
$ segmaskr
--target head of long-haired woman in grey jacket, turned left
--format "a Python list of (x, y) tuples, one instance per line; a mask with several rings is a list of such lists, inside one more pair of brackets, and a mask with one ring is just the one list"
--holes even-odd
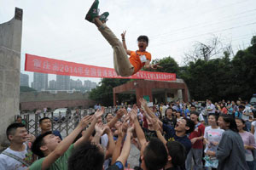
[(220, 115), (218, 117), (218, 126), (224, 130), (232, 130), (234, 132), (238, 132), (236, 121), (235, 119), (230, 115)]

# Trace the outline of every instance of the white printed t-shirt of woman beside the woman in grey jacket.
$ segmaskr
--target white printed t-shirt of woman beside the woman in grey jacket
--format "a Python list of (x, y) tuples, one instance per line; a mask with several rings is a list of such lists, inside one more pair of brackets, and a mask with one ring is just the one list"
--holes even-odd
[(207, 139), (210, 142), (210, 144), (207, 144), (205, 152), (207, 152), (207, 150), (212, 150), (212, 151), (217, 150), (218, 146), (215, 146), (211, 142), (218, 142), (219, 143), (219, 141), (222, 137), (222, 133), (224, 133), (224, 130), (219, 128), (219, 127), (218, 128), (212, 128), (211, 126), (208, 126), (208, 127), (205, 128), (204, 138)]

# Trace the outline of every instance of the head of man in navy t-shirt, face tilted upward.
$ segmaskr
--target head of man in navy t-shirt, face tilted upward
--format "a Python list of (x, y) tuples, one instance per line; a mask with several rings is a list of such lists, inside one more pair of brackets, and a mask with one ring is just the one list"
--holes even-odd
[(192, 133), (195, 128), (195, 122), (191, 121), (188, 118), (181, 119), (177, 121), (175, 125), (175, 130), (179, 133)]

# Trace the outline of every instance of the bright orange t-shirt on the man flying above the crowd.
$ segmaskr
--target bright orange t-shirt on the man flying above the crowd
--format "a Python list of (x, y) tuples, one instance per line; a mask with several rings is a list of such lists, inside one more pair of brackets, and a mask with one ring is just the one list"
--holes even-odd
[(134, 67), (133, 74), (135, 74), (143, 68), (147, 61), (151, 61), (151, 54), (147, 51), (131, 51), (129, 60)]

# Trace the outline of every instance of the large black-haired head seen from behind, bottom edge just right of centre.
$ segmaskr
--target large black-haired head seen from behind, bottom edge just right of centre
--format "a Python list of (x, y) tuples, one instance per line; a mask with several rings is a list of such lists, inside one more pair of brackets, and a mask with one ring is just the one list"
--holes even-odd
[(145, 165), (148, 170), (161, 169), (167, 162), (167, 150), (160, 139), (151, 138), (143, 152)]

